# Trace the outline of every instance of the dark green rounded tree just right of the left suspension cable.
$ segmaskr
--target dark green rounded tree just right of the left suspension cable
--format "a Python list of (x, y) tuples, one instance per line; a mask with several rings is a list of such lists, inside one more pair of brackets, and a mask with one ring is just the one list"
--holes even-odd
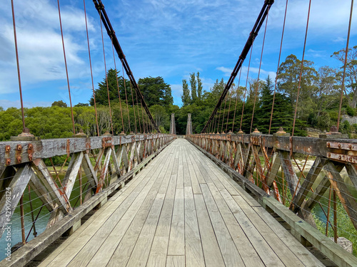
[(171, 95), (171, 87), (169, 84), (165, 83), (164, 78), (141, 78), (138, 81), (138, 85), (141, 93), (144, 95), (144, 100), (149, 107), (151, 105), (169, 107), (169, 105), (174, 103), (174, 98), (172, 98)]

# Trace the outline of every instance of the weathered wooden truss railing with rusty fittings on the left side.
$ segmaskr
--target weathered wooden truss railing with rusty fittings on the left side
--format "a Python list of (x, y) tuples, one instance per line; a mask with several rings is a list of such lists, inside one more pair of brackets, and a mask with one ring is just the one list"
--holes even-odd
[[(22, 229), (22, 243), (26, 243), (31, 232), (36, 235), (41, 210), (47, 210), (46, 228), (53, 226), (104, 191), (108, 195), (120, 189), (175, 138), (165, 134), (77, 135), (67, 139), (0, 142), (0, 235), (11, 224), (12, 229)], [(68, 166), (61, 164), (56, 168), (56, 156), (65, 157)], [(62, 168), (66, 170), (61, 172)], [(101, 198), (96, 198), (96, 204), (100, 204)], [(21, 215), (11, 219), (17, 206)], [(25, 222), (30, 213), (31, 221)], [(82, 212), (81, 216), (84, 215)], [(27, 238), (25, 223), (31, 225)], [(6, 235), (7, 232), (2, 239)]]

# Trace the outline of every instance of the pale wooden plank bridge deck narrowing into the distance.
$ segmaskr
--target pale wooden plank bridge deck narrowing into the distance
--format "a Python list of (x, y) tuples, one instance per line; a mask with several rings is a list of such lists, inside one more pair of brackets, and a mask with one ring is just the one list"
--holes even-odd
[(40, 266), (323, 266), (177, 139)]

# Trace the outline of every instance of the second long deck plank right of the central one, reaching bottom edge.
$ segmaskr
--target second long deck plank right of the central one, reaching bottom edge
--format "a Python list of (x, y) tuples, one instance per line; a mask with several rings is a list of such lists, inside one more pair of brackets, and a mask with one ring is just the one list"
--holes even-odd
[(225, 266), (202, 194), (194, 195), (206, 266)]

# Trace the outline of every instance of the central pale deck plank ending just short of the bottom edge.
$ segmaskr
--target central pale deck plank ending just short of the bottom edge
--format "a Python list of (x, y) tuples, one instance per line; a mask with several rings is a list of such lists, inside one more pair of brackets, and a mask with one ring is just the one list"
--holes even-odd
[(184, 255), (185, 253), (184, 217), (183, 189), (176, 187), (168, 255)]

